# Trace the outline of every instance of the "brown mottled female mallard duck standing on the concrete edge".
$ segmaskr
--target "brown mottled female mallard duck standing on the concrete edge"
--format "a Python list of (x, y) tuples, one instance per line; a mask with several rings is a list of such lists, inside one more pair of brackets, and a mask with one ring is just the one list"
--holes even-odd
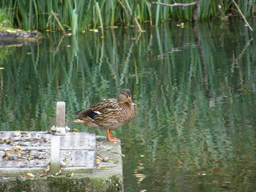
[(111, 129), (117, 129), (132, 121), (135, 111), (129, 89), (122, 89), (117, 99), (106, 99), (82, 111), (73, 114), (79, 117), (70, 122), (77, 122), (90, 128), (106, 129), (108, 141), (120, 142), (111, 137)]

